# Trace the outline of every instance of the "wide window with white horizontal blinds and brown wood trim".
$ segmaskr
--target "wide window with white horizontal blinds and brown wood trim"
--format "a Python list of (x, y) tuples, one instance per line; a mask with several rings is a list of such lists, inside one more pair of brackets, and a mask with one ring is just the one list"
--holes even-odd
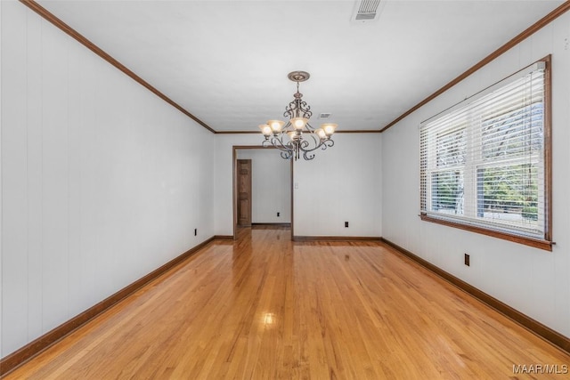
[(550, 242), (550, 57), (420, 125), (420, 216)]

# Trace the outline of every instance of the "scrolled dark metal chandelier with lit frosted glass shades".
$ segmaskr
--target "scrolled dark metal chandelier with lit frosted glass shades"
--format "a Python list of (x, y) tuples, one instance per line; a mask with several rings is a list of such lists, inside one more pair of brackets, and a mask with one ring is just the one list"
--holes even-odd
[(297, 93), (295, 99), (289, 103), (283, 113), (284, 117), (289, 117), (286, 122), (281, 120), (269, 120), (267, 124), (259, 125), (261, 133), (265, 136), (264, 147), (273, 145), (281, 150), (281, 157), (285, 159), (294, 158), (296, 161), (301, 157), (305, 160), (314, 158), (314, 150), (326, 150), (335, 144), (331, 140), (332, 134), (337, 129), (336, 124), (322, 124), (315, 129), (309, 124), (309, 118), (313, 116), (311, 107), (303, 101), (303, 94), (299, 93), (299, 83), (305, 82), (310, 75), (306, 71), (293, 71), (289, 75), (290, 80), (297, 82)]

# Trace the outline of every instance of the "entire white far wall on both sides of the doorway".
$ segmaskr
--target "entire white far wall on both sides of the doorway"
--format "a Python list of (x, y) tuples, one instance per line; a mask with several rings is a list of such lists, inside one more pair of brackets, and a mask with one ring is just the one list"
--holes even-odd
[[(312, 161), (294, 163), (294, 234), (380, 237), (381, 135), (337, 133), (334, 140)], [(232, 235), (232, 146), (261, 141), (261, 133), (216, 135), (216, 235)]]

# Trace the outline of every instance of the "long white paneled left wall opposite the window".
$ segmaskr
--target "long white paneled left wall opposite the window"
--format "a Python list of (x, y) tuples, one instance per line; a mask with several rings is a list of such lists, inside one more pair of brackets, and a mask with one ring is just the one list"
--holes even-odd
[(214, 235), (215, 136), (0, 4), (4, 357)]

